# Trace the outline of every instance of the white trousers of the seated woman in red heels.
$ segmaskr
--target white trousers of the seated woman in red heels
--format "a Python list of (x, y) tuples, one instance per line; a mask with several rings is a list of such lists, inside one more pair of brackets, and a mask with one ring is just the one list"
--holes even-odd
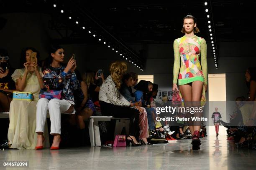
[[(61, 134), (61, 112), (69, 109), (71, 103), (67, 100), (41, 98), (36, 104), (36, 132), (44, 133), (47, 110), (51, 120), (51, 134)], [(75, 113), (75, 110), (72, 114)]]

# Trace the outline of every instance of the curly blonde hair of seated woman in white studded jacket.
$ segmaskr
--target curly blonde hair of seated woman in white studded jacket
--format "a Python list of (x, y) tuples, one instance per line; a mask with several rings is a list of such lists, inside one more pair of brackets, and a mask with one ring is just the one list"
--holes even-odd
[(123, 61), (116, 61), (110, 65), (110, 75), (117, 89), (121, 87), (122, 77), (127, 70), (127, 65)]

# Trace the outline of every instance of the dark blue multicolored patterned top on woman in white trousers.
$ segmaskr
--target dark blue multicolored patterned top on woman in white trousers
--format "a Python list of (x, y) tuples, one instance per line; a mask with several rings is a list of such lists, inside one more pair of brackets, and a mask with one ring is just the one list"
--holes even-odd
[(43, 69), (44, 86), (47, 90), (62, 90), (64, 99), (69, 100), (74, 105), (74, 95), (72, 90), (76, 90), (79, 81), (76, 74), (70, 71), (64, 72), (65, 67), (60, 66), (58, 68), (51, 67), (50, 65)]

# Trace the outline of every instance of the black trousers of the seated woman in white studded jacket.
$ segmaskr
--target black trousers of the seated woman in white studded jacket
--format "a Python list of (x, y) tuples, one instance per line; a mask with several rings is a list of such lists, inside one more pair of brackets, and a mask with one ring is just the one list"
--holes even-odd
[(136, 136), (139, 131), (138, 119), (140, 112), (138, 109), (127, 106), (113, 105), (100, 101), (100, 109), (103, 116), (113, 116), (116, 118), (130, 118), (129, 135)]

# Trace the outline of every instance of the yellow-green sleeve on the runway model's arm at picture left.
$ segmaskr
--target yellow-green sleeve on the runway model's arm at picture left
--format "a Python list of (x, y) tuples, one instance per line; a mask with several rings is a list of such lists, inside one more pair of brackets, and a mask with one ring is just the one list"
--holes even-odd
[(179, 69), (180, 69), (179, 44), (177, 40), (174, 40), (173, 42), (173, 50), (174, 50), (173, 83), (177, 84), (177, 79), (178, 79)]

